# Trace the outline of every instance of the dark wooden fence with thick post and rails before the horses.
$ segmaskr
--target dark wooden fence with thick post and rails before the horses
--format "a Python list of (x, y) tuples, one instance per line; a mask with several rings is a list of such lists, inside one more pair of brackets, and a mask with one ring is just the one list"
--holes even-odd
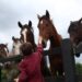
[[(62, 59), (63, 59), (63, 70), (65, 70), (65, 79), (57, 79), (52, 80), (51, 78), (46, 79), (47, 82), (79, 82), (81, 81), (80, 77), (75, 75), (75, 61), (74, 61), (74, 55), (73, 55), (73, 48), (70, 43), (69, 38), (66, 38), (61, 42), (61, 46), (57, 47), (52, 51), (54, 54), (62, 54)], [(75, 49), (77, 52), (82, 52), (82, 47), (80, 46), (79, 48)], [(49, 55), (49, 50), (44, 50), (44, 55)], [(7, 61), (16, 61), (21, 59), (22, 56), (16, 56), (12, 58), (4, 58), (0, 59), (0, 62), (7, 62)], [(1, 68), (0, 68), (1, 70)], [(1, 75), (1, 71), (0, 71)], [(80, 78), (80, 79), (79, 79)], [(0, 77), (1, 80), (1, 77)], [(51, 81), (52, 80), (52, 81)], [(1, 81), (0, 81), (1, 82)]]

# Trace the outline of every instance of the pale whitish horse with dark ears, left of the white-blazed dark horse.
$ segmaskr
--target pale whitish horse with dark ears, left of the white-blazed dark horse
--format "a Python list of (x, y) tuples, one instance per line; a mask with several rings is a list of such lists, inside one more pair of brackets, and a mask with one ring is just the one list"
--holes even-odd
[(20, 47), (22, 45), (22, 40), (17, 37), (12, 36), (13, 45), (12, 45), (12, 56), (21, 55)]

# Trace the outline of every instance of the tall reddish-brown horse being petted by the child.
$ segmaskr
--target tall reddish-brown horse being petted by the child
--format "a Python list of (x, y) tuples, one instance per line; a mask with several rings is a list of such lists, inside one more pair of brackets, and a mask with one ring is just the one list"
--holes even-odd
[[(50, 40), (50, 51), (52, 52), (52, 49), (56, 47), (59, 47), (61, 45), (61, 36), (57, 33), (56, 27), (52, 24), (52, 21), (50, 20), (49, 12), (46, 10), (46, 14), (43, 16), (38, 16), (38, 30), (39, 35), (43, 36), (43, 45), (46, 47), (47, 40)], [(50, 70), (52, 75), (62, 75), (63, 69), (62, 69), (62, 57), (61, 55), (49, 55), (49, 61), (50, 61)]]

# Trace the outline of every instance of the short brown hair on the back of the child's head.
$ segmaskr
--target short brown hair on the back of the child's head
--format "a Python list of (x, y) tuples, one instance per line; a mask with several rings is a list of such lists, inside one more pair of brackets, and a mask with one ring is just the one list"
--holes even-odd
[(21, 45), (20, 50), (23, 56), (30, 56), (33, 52), (33, 46), (31, 43), (24, 43)]

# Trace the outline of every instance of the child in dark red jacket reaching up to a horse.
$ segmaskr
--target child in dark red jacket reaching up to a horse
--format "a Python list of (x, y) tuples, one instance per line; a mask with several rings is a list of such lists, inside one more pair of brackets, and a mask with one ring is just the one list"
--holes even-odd
[(44, 77), (40, 71), (40, 61), (43, 57), (43, 38), (39, 36), (36, 52), (33, 52), (31, 43), (25, 43), (21, 46), (21, 51), (24, 56), (19, 63), (19, 82), (44, 82)]

